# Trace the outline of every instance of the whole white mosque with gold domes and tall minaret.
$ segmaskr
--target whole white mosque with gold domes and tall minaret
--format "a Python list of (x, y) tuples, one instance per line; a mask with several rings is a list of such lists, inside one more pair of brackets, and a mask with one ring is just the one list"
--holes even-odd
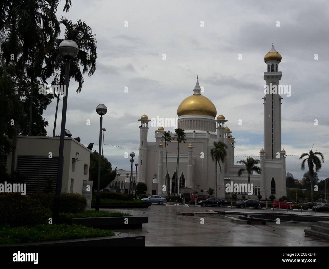
[[(264, 57), (266, 85), (279, 85), (282, 76), (279, 71), (281, 59), (280, 53), (274, 49), (272, 44), (270, 51)], [(283, 98), (278, 93), (270, 92), (262, 99), (264, 100), (264, 148), (260, 149), (260, 157), (257, 158), (260, 159), (261, 174), (250, 175), (253, 195), (249, 198), (257, 199), (260, 194), (263, 200), (269, 199), (269, 196), (273, 194), (276, 199), (279, 199), (283, 195), (287, 195), (286, 152), (281, 147), (281, 100)], [(181, 102), (177, 115), (178, 128), (183, 129), (186, 133), (186, 143), (180, 143), (179, 147), (178, 180), (179, 186), (183, 186), (183, 188), (180, 188), (178, 192), (189, 197), (193, 193), (200, 194), (201, 190), (207, 191), (209, 188), (213, 188), (216, 197), (231, 198), (232, 192), (225, 191), (225, 184), (247, 183), (248, 174), (244, 172), (238, 176), (238, 170), (244, 168), (244, 165), (234, 163), (234, 144), (237, 141), (231, 134), (230, 128), (227, 127), (229, 126), (228, 120), (222, 114), (217, 116), (215, 105), (201, 94), (198, 78), (193, 94)], [(165, 143), (162, 141), (164, 128), (161, 126), (155, 131), (156, 141), (147, 141), (149, 129), (147, 125), (150, 121), (145, 114), (139, 119), (138, 182), (146, 183), (148, 193), (166, 196), (167, 193), (163, 186), (166, 184), (167, 169), (171, 178), (170, 192), (174, 193), (178, 142), (173, 139), (167, 143), (166, 155)], [(210, 155), (211, 149), (214, 148), (214, 141), (223, 142), (227, 146), (227, 157), (224, 163), (221, 163), (221, 169)], [(215, 165), (217, 165), (217, 177)], [(238, 198), (241, 198), (242, 195), (247, 196), (246, 192), (236, 192), (236, 194)]]

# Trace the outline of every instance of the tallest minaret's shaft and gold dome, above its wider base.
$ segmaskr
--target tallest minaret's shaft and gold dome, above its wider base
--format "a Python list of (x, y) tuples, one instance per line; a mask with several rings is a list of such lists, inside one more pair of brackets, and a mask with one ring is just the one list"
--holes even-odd
[[(265, 55), (266, 72), (264, 80), (269, 91), (264, 99), (264, 150), (265, 159), (280, 159), (281, 152), (281, 96), (279, 95), (279, 63), (281, 55), (273, 46)], [(272, 91), (273, 90), (273, 91)], [(278, 154), (279, 153), (279, 154)]]

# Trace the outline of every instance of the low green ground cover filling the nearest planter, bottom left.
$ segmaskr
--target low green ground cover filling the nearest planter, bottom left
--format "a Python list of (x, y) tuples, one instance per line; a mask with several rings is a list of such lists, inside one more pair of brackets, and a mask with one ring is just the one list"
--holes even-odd
[(9, 225), (0, 226), (0, 244), (17, 244), (43, 242), (51, 240), (77, 239), (99, 236), (113, 236), (110, 230), (100, 230), (86, 226), (67, 224), (45, 224), (11, 228)]

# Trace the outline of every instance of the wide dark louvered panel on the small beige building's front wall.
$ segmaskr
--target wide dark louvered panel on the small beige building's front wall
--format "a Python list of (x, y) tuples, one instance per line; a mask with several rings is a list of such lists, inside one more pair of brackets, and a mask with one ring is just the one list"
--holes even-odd
[(51, 185), (56, 187), (58, 157), (51, 159), (43, 156), (18, 156), (17, 171), (27, 177), (27, 193), (43, 190), (45, 177), (52, 179)]

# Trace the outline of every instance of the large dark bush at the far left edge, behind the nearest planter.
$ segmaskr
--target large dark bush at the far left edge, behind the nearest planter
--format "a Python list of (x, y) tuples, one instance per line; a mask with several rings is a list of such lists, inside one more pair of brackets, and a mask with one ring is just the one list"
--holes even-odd
[(20, 193), (0, 194), (0, 226), (11, 227), (45, 224), (49, 210), (36, 200)]

